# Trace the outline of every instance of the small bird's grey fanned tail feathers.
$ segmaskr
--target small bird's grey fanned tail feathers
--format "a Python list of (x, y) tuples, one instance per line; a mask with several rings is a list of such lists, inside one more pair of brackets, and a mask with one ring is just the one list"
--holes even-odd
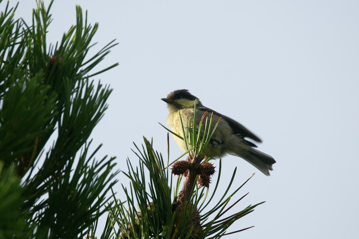
[(246, 152), (241, 152), (238, 156), (258, 168), (265, 175), (270, 176), (269, 171), (273, 170), (274, 158), (252, 147), (246, 147), (246, 149)]

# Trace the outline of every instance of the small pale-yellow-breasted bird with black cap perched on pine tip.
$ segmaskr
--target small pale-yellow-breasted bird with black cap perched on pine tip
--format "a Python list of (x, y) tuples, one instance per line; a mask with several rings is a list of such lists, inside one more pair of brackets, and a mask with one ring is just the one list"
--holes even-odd
[[(201, 116), (205, 111), (208, 111), (209, 114), (207, 115), (211, 115), (213, 112), (214, 123), (222, 118), (210, 139), (208, 147), (205, 149), (206, 158), (215, 159), (222, 158), (227, 154), (234, 155), (252, 164), (266, 176), (270, 176), (269, 171), (273, 170), (272, 165), (276, 163), (276, 161), (268, 154), (255, 149), (257, 145), (247, 139), (252, 139), (258, 143), (261, 143), (262, 140), (242, 124), (239, 124), (237, 121), (222, 115), (217, 111), (205, 107), (196, 96), (192, 95), (186, 89), (175, 90), (161, 100), (166, 102), (168, 106), (168, 118), (166, 124), (171, 127), (171, 130), (174, 133), (181, 137), (183, 137), (183, 131), (178, 112), (180, 112), (183, 122), (186, 122), (185, 120), (189, 117), (193, 119), (195, 102), (197, 130)], [(183, 123), (183, 125), (185, 125), (185, 123)], [(173, 138), (183, 151), (187, 151), (185, 142), (181, 138), (178, 138), (175, 135), (173, 135)]]

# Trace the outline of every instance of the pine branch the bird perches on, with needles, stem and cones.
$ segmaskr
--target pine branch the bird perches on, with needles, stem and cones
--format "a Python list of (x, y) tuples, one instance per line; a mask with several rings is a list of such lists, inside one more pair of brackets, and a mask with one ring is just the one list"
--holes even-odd
[[(196, 105), (196, 104), (194, 104)], [(139, 166), (132, 166), (127, 160), (130, 179), (130, 188), (122, 185), (127, 197), (125, 202), (116, 200), (115, 207), (109, 208), (106, 228), (101, 239), (121, 238), (156, 238), (156, 239), (204, 239), (221, 238), (224, 235), (247, 230), (244, 228), (227, 232), (229, 226), (243, 216), (251, 213), (253, 209), (262, 204), (249, 205), (243, 210), (232, 212), (231, 208), (241, 201), (247, 194), (240, 197), (232, 205), (229, 202), (250, 178), (241, 186), (229, 193), (233, 185), (237, 168), (234, 169), (232, 179), (221, 199), (215, 206), (209, 206), (217, 191), (222, 161), (218, 168), (218, 180), (215, 183), (213, 193), (209, 199), (209, 187), (211, 176), (215, 173), (215, 167), (205, 158), (205, 149), (210, 142), (218, 122), (212, 127), (213, 113), (210, 117), (200, 115), (201, 123), (196, 126), (196, 106), (194, 119), (182, 121), (182, 131), (185, 137), (181, 137), (167, 129), (176, 137), (184, 140), (188, 154), (186, 160), (179, 160), (182, 156), (169, 161), (169, 135), (167, 134), (167, 162), (164, 162), (162, 154), (152, 147), (153, 143), (144, 138), (142, 149), (136, 146), (135, 154), (139, 158)], [(194, 130), (197, 129), (197, 130)], [(171, 166), (171, 172), (169, 167)], [(149, 177), (145, 175), (149, 174)], [(173, 177), (177, 175), (177, 177)], [(253, 176), (253, 175), (252, 175)], [(149, 178), (149, 179), (148, 179)], [(185, 178), (180, 191), (181, 180)], [(223, 190), (219, 190), (223, 191)], [(230, 214), (230, 215), (228, 215)]]

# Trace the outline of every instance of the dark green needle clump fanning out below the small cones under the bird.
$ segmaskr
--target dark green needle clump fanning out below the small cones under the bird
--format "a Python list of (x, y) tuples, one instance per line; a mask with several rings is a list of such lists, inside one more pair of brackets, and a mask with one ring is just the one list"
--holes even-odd
[[(221, 165), (218, 168), (218, 181), (211, 185), (212, 195), (207, 199), (209, 188), (198, 187), (196, 184), (192, 190), (190, 200), (185, 206), (180, 207), (177, 203), (178, 191), (182, 177), (173, 177), (169, 168), (165, 167), (161, 154), (152, 147), (152, 143), (144, 138), (143, 148), (137, 148), (136, 155), (139, 157), (139, 166), (134, 168), (127, 160), (128, 173), (125, 175), (131, 180), (130, 187), (123, 187), (126, 201), (115, 200), (115, 207), (109, 207), (109, 215), (106, 222), (106, 230), (101, 239), (109, 238), (220, 238), (227, 233), (230, 225), (239, 218), (252, 212), (262, 204), (249, 205), (242, 211), (228, 211), (243, 197), (228, 206), (235, 194), (249, 180), (236, 187), (232, 193), (228, 193), (234, 185), (232, 180), (215, 206), (209, 206), (218, 188)], [(177, 180), (176, 180), (177, 178)], [(173, 181), (175, 180), (175, 181)], [(206, 190), (206, 191), (205, 191)], [(222, 190), (219, 190), (222, 191)], [(115, 197), (115, 196), (114, 196)], [(244, 228), (238, 231), (246, 230)], [(238, 232), (236, 231), (236, 232)], [(93, 237), (93, 236), (92, 236)]]

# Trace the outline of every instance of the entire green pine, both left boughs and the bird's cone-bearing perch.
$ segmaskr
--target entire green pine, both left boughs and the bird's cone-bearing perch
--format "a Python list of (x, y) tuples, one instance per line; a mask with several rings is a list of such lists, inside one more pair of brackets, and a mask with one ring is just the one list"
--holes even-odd
[[(135, 144), (139, 164), (127, 160), (130, 186), (122, 185), (121, 192), (126, 201), (116, 199), (113, 191), (109, 201), (106, 193), (117, 183), (115, 157), (96, 160), (101, 145), (90, 152), (89, 136), (108, 107), (111, 89), (91, 78), (117, 65), (92, 72), (116, 43), (89, 56), (98, 24), (88, 24), (87, 14), (76, 6), (76, 25), (61, 42), (47, 45), (52, 2), (48, 7), (37, 2), (32, 24), (14, 20), (16, 7), (9, 3), (0, 15), (0, 238), (202, 239), (229, 234), (230, 225), (261, 203), (229, 213), (246, 195), (227, 206), (230, 200), (249, 180), (229, 193), (234, 169), (221, 200), (209, 206), (222, 165), (220, 161), (217, 169), (204, 157), (216, 128), (209, 130), (212, 118), (204, 121), (203, 116), (198, 131), (195, 119), (183, 123), (186, 160), (180, 156), (171, 163), (168, 156), (165, 162), (146, 138), (141, 149)], [(4, 6), (2, 0), (0, 4)], [(214, 173), (219, 176), (213, 188)], [(104, 212), (106, 225), (98, 235)]]

